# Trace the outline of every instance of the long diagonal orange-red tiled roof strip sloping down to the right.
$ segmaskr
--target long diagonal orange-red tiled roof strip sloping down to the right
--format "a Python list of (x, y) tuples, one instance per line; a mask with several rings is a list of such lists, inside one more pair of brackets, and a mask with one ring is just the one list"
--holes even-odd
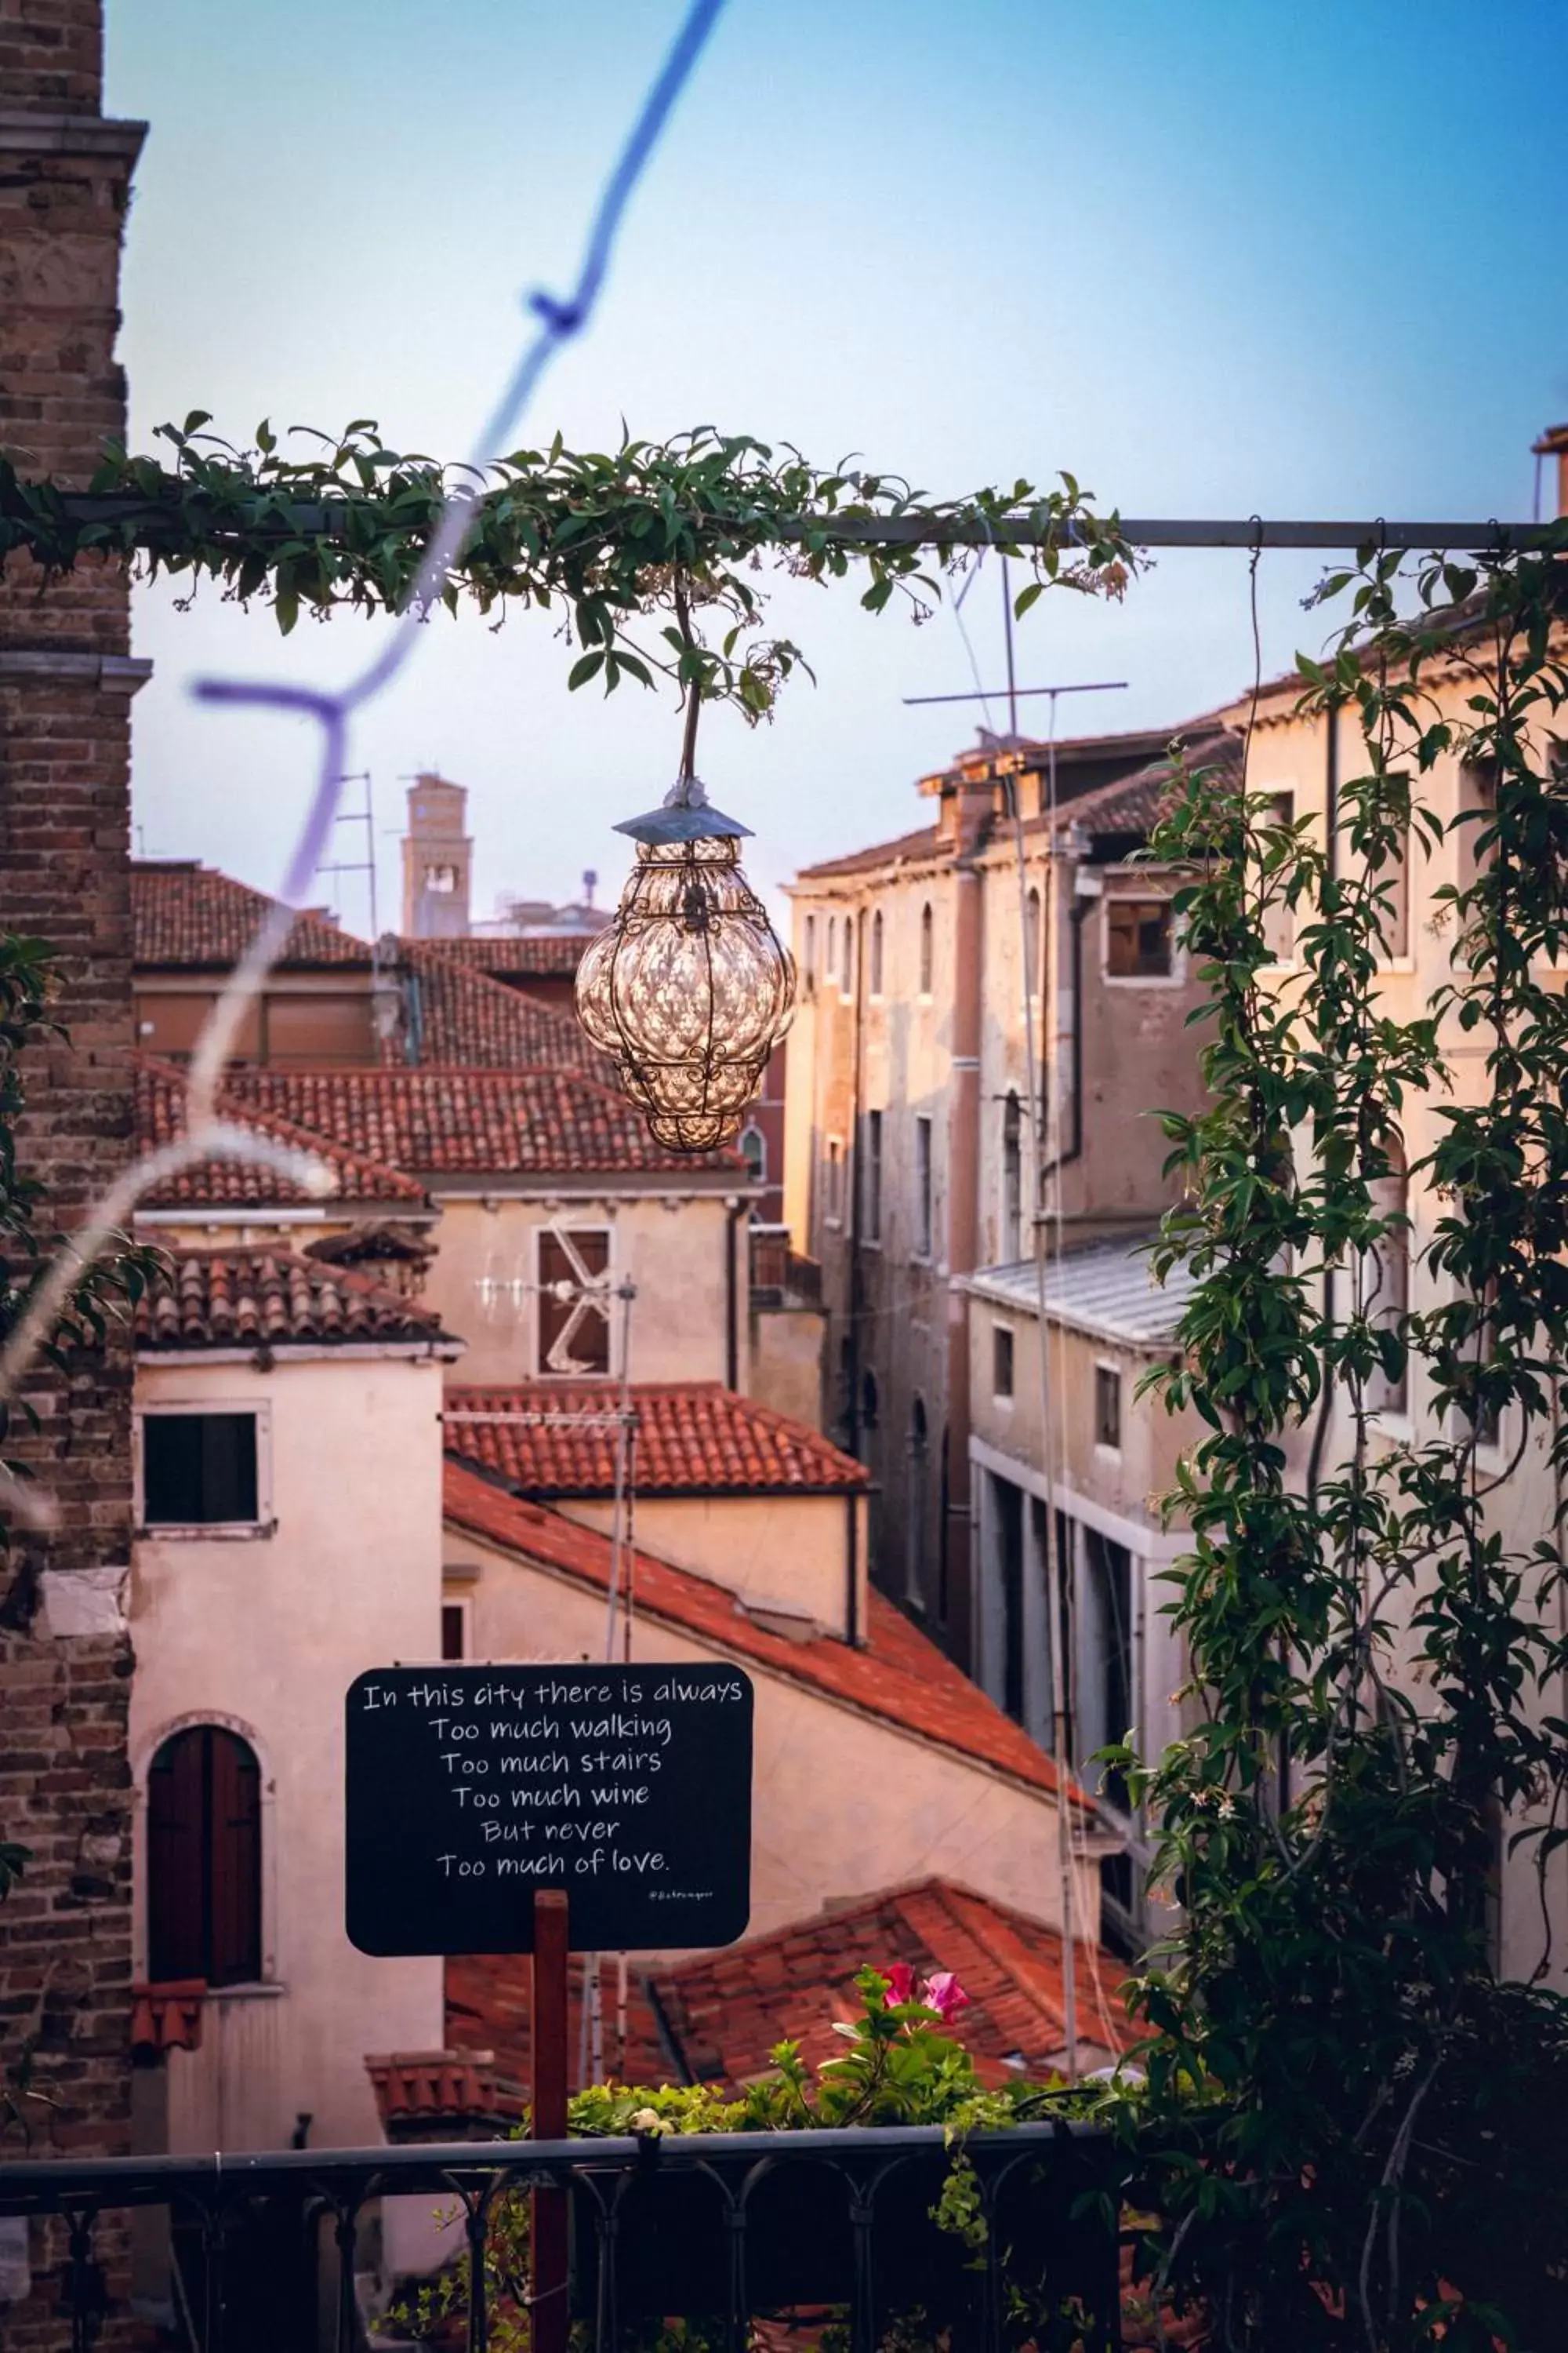
[[(609, 1591), (609, 1537), (578, 1527), (548, 1504), (503, 1494), (477, 1471), (451, 1459), (447, 1459), (447, 1518), (473, 1537), (536, 1560), (576, 1584)], [(637, 1553), (635, 1577), (637, 1614), (644, 1624), (670, 1626), (724, 1657), (755, 1661), (788, 1682), (898, 1725), (914, 1739), (950, 1748), (973, 1765), (1009, 1774), (1030, 1788), (1056, 1791), (1056, 1767), (1044, 1748), (1037, 1748), (1030, 1734), (882, 1593), (870, 1593), (867, 1640), (856, 1649), (830, 1635), (795, 1640), (769, 1633), (745, 1614), (726, 1586), (693, 1577), (691, 1569), (675, 1569), (649, 1553)], [(1088, 1809), (1088, 1800), (1084, 1807)]]

